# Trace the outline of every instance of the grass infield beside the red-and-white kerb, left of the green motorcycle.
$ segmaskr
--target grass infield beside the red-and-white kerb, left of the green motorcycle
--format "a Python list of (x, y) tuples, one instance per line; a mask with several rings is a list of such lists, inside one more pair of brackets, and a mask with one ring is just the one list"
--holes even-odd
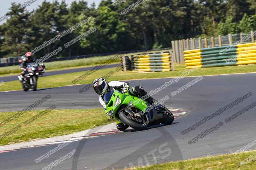
[[(23, 124), (23, 122), (29, 120), (40, 112), (42, 112), (42, 110), (28, 111), (11, 122), (0, 126), (0, 135), (3, 135), (17, 127), (19, 124), (21, 125), (21, 128), (16, 132), (3, 138), (0, 141), (0, 145), (72, 134), (114, 122), (108, 122), (108, 116), (104, 113), (102, 108), (94, 108), (84, 110), (52, 110), (28, 125)], [(17, 112), (2, 112), (0, 114), (0, 122), (16, 113)]]

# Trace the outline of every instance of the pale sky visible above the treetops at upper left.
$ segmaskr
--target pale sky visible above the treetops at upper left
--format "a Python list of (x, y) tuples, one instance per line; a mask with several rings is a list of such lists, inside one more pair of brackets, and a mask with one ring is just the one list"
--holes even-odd
[[(30, 0), (1, 0), (1, 5), (0, 5), (0, 17), (4, 16), (6, 12), (9, 11), (9, 8), (11, 7), (12, 2), (24, 4), (24, 2), (28, 2)], [(27, 6), (26, 9), (29, 11), (32, 11), (33, 9), (36, 9), (38, 5), (41, 5), (44, 0), (37, 0), (33, 4), (30, 4), (30, 6)], [(47, 0), (52, 2), (53, 0)], [(61, 2), (61, 0), (58, 0)], [(67, 4), (71, 4), (72, 1), (75, 0), (65, 0)], [(78, 0), (77, 0), (78, 1)], [(95, 2), (96, 5), (100, 3), (100, 0), (87, 0), (89, 6)], [(0, 24), (3, 24), (5, 21), (0, 22)]]

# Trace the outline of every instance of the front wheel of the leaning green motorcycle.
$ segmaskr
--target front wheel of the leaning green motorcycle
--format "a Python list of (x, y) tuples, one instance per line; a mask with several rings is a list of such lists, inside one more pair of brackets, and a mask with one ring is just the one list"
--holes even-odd
[(127, 125), (136, 130), (145, 130), (148, 125), (146, 121), (140, 117), (131, 116), (129, 113), (125, 111), (121, 111), (119, 114), (119, 118)]

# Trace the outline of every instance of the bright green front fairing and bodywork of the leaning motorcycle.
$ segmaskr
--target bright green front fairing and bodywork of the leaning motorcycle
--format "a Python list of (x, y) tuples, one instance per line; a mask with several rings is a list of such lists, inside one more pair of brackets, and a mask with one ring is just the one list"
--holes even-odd
[[(146, 105), (146, 101), (141, 100), (138, 97), (130, 95), (127, 93), (120, 93), (118, 90), (108, 92), (104, 95), (104, 101), (106, 102), (106, 111), (105, 113), (115, 118), (119, 122), (123, 122), (119, 119), (117, 113), (119, 111), (119, 108), (122, 105), (129, 105), (129, 103), (132, 101), (132, 103), (135, 103), (136, 105), (132, 104), (132, 107), (136, 107), (137, 109), (140, 109), (145, 113), (146, 108), (148, 107)], [(136, 102), (135, 102), (136, 101)]]

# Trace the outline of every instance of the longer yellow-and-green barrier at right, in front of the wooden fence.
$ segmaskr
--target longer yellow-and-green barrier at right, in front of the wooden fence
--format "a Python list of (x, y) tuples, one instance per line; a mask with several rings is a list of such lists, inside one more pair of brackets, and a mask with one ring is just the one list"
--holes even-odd
[(184, 51), (187, 69), (256, 64), (256, 43)]

